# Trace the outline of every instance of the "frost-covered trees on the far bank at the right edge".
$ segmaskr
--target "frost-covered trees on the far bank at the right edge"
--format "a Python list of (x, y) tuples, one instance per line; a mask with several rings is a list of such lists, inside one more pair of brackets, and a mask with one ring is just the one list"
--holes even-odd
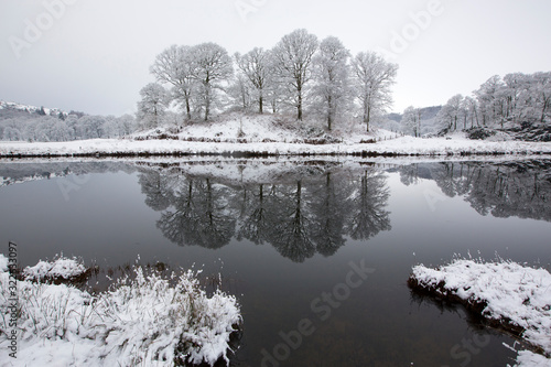
[(456, 95), (443, 106), (439, 121), (449, 131), (472, 127), (545, 123), (551, 117), (551, 72), (493, 76), (473, 96)]

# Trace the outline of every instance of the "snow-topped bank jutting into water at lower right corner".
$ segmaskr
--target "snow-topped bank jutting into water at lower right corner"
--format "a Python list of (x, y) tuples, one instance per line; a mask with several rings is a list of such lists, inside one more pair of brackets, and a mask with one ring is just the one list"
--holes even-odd
[[(551, 356), (551, 274), (547, 270), (510, 261), (454, 260), (437, 269), (414, 267), (409, 283), (461, 302), (506, 330), (521, 332), (523, 339)], [(543, 355), (522, 350), (516, 366), (551, 366)]]

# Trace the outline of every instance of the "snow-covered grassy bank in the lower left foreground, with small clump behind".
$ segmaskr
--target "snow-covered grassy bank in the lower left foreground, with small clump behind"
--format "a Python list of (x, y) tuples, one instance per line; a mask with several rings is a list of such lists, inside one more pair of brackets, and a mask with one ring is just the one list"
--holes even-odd
[(198, 287), (197, 273), (187, 271), (169, 280), (137, 267), (134, 279), (119, 280), (114, 290), (91, 295), (74, 287), (30, 280), (66, 279), (86, 271), (71, 259), (26, 268), (17, 291), (10, 289), (14, 280), (8, 268), (8, 259), (0, 255), (2, 366), (229, 361), (228, 342), (241, 319), (239, 306), (234, 296), (219, 291), (208, 298)]

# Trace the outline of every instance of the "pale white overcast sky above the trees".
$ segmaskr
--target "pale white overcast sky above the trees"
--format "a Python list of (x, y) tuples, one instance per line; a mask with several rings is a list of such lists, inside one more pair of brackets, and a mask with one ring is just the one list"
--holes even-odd
[[(51, 3), (65, 4), (60, 17)], [(256, 11), (241, 17), (239, 3)], [(421, 29), (411, 14), (431, 3), (439, 14)], [(119, 116), (136, 110), (149, 66), (171, 44), (244, 53), (299, 28), (354, 54), (393, 52), (395, 111), (445, 104), (496, 74), (551, 71), (550, 0), (0, 0), (0, 99)], [(401, 51), (392, 42), (404, 32)], [(13, 37), (31, 41), (19, 58)]]

